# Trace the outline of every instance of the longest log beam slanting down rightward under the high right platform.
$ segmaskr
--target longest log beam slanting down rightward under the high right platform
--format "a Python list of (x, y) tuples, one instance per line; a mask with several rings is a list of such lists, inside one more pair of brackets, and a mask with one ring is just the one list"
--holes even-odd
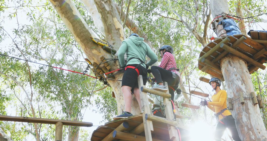
[(263, 70), (265, 69), (265, 66), (264, 66), (264, 65), (262, 65), (262, 64), (260, 64), (259, 62), (253, 60), (252, 58), (246, 56), (245, 54), (243, 54), (243, 53), (241, 53), (241, 52), (238, 52), (237, 50), (234, 50), (234, 49), (231, 48), (230, 46), (227, 46), (227, 45), (225, 45), (225, 44), (221, 44), (221, 48), (227, 50), (228, 52), (233, 53), (234, 55), (236, 55), (236, 56), (238, 56), (238, 57), (240, 57), (240, 58), (242, 58), (242, 59), (244, 59), (244, 60), (246, 60), (246, 61), (252, 63), (253, 65), (255, 65), (255, 66), (257, 66), (257, 67), (259, 67), (259, 68), (261, 68), (261, 69), (263, 69)]

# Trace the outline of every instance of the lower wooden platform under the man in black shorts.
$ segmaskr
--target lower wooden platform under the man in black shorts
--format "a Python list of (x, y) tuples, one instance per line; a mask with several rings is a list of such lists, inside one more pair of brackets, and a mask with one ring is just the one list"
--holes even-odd
[[(154, 131), (151, 132), (153, 140), (170, 140), (168, 124), (171, 124), (173, 126), (175, 125), (179, 128), (180, 134), (183, 135), (182, 140), (189, 140), (189, 136), (187, 135), (189, 129), (185, 126), (179, 125), (176, 121), (167, 120), (165, 118), (154, 115), (148, 115), (147, 119), (151, 120), (153, 124)], [(118, 129), (117, 127), (119, 127), (124, 122), (127, 122), (128, 128), (124, 128), (123, 131), (120, 131), (121, 128)], [(105, 125), (103, 126), (99, 126), (95, 131), (93, 131), (91, 140), (103, 140), (110, 133), (112, 135), (112, 138), (106, 138), (105, 140), (146, 140), (142, 114), (131, 116), (125, 119), (113, 120), (111, 122), (105, 123)]]

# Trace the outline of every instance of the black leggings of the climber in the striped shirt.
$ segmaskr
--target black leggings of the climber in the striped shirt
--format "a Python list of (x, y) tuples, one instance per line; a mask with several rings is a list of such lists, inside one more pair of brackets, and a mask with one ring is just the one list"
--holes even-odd
[[(172, 77), (172, 72), (158, 66), (151, 66), (151, 72), (154, 75), (157, 84), (162, 83), (163, 81), (168, 83), (169, 92), (171, 94), (171, 100), (174, 99), (174, 91), (178, 88), (178, 84), (180, 82), (180, 77), (176, 74), (176, 81)], [(176, 87), (174, 87), (174, 85)], [(172, 89), (173, 88), (173, 89)]]

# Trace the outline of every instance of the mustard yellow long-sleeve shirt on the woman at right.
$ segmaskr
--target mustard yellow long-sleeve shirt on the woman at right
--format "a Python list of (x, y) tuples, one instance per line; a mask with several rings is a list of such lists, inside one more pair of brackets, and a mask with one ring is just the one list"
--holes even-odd
[[(208, 102), (207, 107), (210, 108), (213, 112), (218, 113), (222, 109), (227, 108), (226, 105), (226, 99), (227, 99), (227, 93), (225, 90), (220, 90), (218, 93), (215, 95), (211, 96), (212, 102)], [(225, 110), (222, 113), (223, 116), (229, 116), (231, 115), (229, 110)], [(219, 115), (219, 120), (223, 118), (222, 115)]]

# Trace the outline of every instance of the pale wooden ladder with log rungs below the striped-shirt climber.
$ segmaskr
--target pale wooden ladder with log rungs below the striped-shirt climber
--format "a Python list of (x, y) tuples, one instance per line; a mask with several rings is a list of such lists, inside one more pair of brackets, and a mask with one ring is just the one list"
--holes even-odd
[[(168, 88), (167, 82), (164, 82), (163, 84)], [(168, 132), (169, 132), (170, 139), (179, 141), (178, 131), (175, 127), (175, 125), (177, 125), (177, 122), (172, 120), (174, 119), (174, 114), (172, 112), (172, 106), (171, 106), (171, 101), (170, 101), (171, 94), (169, 93), (169, 90), (165, 93), (161, 91), (156, 91), (154, 89), (146, 88), (143, 85), (142, 75), (138, 76), (138, 86), (139, 86), (139, 91), (140, 91), (141, 107), (142, 107), (142, 112), (143, 112), (142, 116), (143, 116), (146, 140), (152, 140), (151, 131), (154, 131), (152, 122), (160, 121), (162, 123), (168, 124), (168, 128), (169, 128)], [(163, 97), (163, 104), (166, 105), (165, 107), (166, 119), (152, 115), (150, 105), (148, 103), (147, 93), (151, 93), (151, 94), (159, 95)], [(176, 122), (176, 124), (173, 124), (174, 122)]]

